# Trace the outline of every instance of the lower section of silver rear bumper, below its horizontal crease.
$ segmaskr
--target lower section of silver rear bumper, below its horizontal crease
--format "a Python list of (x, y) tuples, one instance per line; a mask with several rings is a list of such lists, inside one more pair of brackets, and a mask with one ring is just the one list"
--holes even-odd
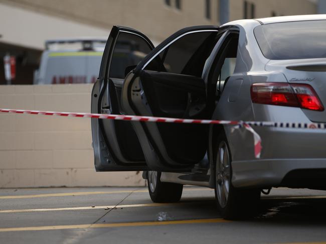
[[(290, 177), (290, 172), (303, 177)], [(269, 188), (274, 186), (324, 188), (326, 158), (284, 158), (232, 161), (232, 184), (235, 187)], [(313, 182), (306, 179), (315, 179)], [(297, 182), (295, 182), (297, 181)], [(318, 183), (319, 182), (319, 183)]]

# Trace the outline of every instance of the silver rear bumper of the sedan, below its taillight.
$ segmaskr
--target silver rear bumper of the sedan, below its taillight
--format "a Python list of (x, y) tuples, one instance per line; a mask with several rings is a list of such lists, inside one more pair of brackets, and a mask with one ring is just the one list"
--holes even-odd
[[(252, 105), (252, 119), (256, 121), (311, 122), (301, 108), (256, 103)], [(288, 175), (295, 170), (301, 170), (302, 176), (310, 177), (320, 177), (319, 172), (326, 172), (326, 129), (252, 127), (261, 137), (259, 159), (254, 156), (251, 132), (245, 128), (224, 126), (231, 150), (232, 182), (235, 187), (285, 186), (284, 182), (289, 183), (286, 179), (293, 181), (293, 177)], [(295, 180), (299, 181), (294, 177)], [(294, 183), (298, 187), (310, 186), (309, 182), (301, 181), (302, 184)]]

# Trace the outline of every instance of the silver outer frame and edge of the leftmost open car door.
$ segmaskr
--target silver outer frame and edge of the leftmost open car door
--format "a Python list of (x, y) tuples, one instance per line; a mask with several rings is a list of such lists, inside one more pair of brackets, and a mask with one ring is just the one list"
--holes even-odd
[[(92, 98), (91, 98), (91, 112), (92, 113), (102, 113), (102, 97), (105, 95), (104, 92), (107, 86), (109, 86), (109, 70), (112, 62), (112, 55), (114, 52), (114, 47), (116, 41), (119, 37), (120, 32), (127, 32), (130, 34), (137, 35), (144, 39), (148, 46), (153, 49), (154, 45), (150, 39), (145, 36), (140, 31), (124, 27), (124, 26), (113, 26), (110, 32), (110, 35), (107, 39), (105, 49), (102, 56), (102, 61), (100, 65), (99, 77), (92, 89)], [(108, 96), (108, 94), (107, 94)], [(110, 98), (108, 96), (108, 101)], [(129, 121), (131, 122), (131, 121)], [(106, 138), (106, 135), (103, 135), (103, 123), (99, 118), (91, 118), (92, 124), (92, 146), (94, 148), (94, 164), (96, 171), (135, 171), (135, 170), (146, 170), (147, 165), (144, 161), (128, 161), (123, 156), (119, 144), (117, 141), (114, 121), (110, 120), (108, 123), (109, 131), (111, 138)], [(106, 129), (108, 129), (106, 128)]]

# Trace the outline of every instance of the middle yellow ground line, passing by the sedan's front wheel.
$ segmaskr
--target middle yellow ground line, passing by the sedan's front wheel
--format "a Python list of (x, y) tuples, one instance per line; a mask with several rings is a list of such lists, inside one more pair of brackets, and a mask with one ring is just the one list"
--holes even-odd
[[(193, 190), (212, 190), (211, 188), (190, 188), (184, 191)], [(96, 195), (96, 194), (113, 194), (113, 193), (131, 193), (131, 192), (148, 192), (148, 190), (117, 190), (117, 191), (86, 191), (86, 192), (63, 192), (63, 193), (46, 193), (35, 195), (4, 195), (0, 199), (16, 199), (16, 198), (34, 198), (34, 197), (49, 197), (49, 196), (70, 196), (70, 195)]]

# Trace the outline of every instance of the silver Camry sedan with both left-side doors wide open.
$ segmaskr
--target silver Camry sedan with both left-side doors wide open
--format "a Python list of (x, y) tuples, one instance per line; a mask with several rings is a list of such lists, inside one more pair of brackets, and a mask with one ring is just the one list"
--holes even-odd
[[(243, 121), (326, 122), (326, 15), (245, 19), (179, 30), (154, 48), (114, 26), (92, 112)], [(225, 218), (252, 215), (271, 187), (326, 189), (322, 130), (92, 119), (97, 171), (143, 170), (155, 202), (183, 185), (215, 188)], [(264, 190), (265, 189), (265, 190)], [(245, 209), (245, 210), (244, 210)]]

